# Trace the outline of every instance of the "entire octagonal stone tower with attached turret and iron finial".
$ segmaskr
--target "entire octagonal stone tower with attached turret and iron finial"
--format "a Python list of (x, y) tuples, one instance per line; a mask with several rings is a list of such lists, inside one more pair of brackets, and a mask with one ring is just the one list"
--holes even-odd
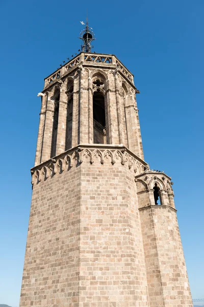
[(133, 74), (93, 35), (39, 93), (20, 307), (192, 307), (171, 178), (144, 161)]

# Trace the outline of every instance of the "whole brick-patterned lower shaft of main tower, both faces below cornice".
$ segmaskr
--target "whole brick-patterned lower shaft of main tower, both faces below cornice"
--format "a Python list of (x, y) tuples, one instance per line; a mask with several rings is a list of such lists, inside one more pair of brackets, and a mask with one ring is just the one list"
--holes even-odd
[(147, 306), (134, 170), (111, 159), (35, 180), (20, 307)]

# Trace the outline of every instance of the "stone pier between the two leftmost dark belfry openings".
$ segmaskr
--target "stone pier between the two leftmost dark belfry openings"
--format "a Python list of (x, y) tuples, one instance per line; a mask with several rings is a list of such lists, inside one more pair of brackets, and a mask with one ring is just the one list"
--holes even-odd
[(62, 85), (60, 89), (56, 155), (59, 155), (60, 153), (65, 151), (66, 116), (67, 116), (66, 111), (67, 111), (67, 95), (65, 94), (65, 86)]

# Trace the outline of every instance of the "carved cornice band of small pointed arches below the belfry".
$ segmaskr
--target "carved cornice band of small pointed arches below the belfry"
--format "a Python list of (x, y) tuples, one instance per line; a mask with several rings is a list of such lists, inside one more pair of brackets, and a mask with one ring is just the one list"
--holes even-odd
[(114, 165), (119, 160), (121, 165), (133, 171), (133, 176), (144, 171), (146, 162), (137, 157), (125, 146), (104, 144), (81, 144), (66, 150), (61, 155), (41, 163), (31, 169), (32, 184), (52, 178), (55, 174), (61, 174), (65, 169), (79, 166), (85, 159), (93, 163), (111, 163)]

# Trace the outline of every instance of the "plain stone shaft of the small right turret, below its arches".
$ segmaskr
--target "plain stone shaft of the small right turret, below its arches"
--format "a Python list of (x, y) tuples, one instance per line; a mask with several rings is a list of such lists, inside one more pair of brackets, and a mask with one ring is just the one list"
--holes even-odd
[(192, 307), (175, 210), (149, 206), (140, 216), (150, 307)]

